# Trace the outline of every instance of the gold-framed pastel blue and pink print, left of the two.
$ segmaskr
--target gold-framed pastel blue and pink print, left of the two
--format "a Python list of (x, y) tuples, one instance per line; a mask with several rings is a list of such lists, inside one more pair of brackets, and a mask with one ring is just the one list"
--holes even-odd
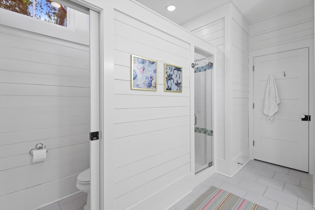
[(157, 61), (131, 55), (131, 89), (157, 91)]

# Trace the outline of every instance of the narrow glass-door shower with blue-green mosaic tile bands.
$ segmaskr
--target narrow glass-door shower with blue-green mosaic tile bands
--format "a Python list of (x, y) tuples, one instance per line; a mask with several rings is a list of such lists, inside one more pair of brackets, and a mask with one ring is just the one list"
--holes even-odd
[(195, 173), (212, 166), (212, 59), (212, 54), (195, 48)]

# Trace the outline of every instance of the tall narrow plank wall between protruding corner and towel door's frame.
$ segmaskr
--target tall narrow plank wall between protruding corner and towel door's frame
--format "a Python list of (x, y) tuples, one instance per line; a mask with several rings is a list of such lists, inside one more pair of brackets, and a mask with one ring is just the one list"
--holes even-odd
[(232, 159), (249, 148), (248, 33), (234, 19), (231, 40)]

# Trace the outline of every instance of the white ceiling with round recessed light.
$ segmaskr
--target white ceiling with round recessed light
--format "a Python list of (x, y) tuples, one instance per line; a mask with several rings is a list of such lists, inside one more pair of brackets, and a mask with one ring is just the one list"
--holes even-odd
[[(167, 19), (182, 25), (219, 6), (232, 2), (251, 25), (314, 4), (314, 0), (136, 0)], [(176, 10), (166, 6), (175, 4)]]

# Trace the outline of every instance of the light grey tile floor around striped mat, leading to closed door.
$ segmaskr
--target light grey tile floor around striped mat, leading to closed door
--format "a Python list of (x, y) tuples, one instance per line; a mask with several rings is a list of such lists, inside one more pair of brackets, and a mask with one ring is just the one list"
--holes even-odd
[(270, 210), (315, 210), (312, 176), (282, 166), (249, 161), (232, 179), (214, 174), (170, 210), (185, 210), (210, 186), (216, 186)]

